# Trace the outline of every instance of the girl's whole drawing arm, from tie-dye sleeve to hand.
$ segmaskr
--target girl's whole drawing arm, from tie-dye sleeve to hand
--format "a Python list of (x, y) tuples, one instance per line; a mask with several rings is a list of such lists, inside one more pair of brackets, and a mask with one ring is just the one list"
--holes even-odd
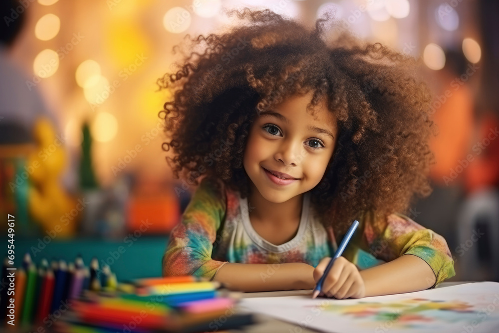
[[(331, 268), (323, 289), (329, 297), (362, 298), (434, 288), (455, 275), (454, 261), (445, 239), (402, 214), (392, 214), (386, 221), (373, 214), (362, 218), (361, 233), (354, 239)], [(366, 266), (359, 250), (369, 252), (384, 262)], [(350, 263), (346, 258), (350, 258)], [(323, 259), (315, 268), (313, 278), (318, 281), (329, 261)], [(370, 261), (370, 260), (369, 260)]]

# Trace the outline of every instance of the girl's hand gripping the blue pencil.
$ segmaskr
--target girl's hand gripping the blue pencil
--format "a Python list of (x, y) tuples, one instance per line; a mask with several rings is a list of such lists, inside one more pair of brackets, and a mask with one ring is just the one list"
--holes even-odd
[[(315, 283), (319, 282), (320, 277), (326, 270), (331, 257), (322, 259), (313, 271)], [(366, 294), (364, 280), (360, 276), (357, 266), (339, 257), (329, 270), (329, 274), (324, 278), (322, 290), (319, 294), (337, 299), (363, 298)]]

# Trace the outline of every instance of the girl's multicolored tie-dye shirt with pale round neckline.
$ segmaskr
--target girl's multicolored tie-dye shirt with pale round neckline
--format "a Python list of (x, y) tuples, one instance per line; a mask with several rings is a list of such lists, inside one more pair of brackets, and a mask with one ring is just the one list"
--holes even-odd
[[(332, 257), (342, 236), (336, 239), (332, 227), (325, 228), (310, 205), (310, 193), (303, 196), (296, 235), (274, 245), (259, 236), (250, 223), (248, 198), (203, 179), (170, 233), (163, 256), (163, 276), (194, 275), (213, 280), (226, 263), (283, 264), (302, 262), (316, 267)], [(409, 217), (392, 214), (380, 227), (374, 214), (364, 214), (343, 257), (359, 270), (392, 261), (404, 254), (420, 257), (430, 265), (439, 283), (455, 275), (454, 261), (445, 239)], [(375, 222), (373, 222), (375, 221)], [(338, 243), (337, 243), (338, 241)]]

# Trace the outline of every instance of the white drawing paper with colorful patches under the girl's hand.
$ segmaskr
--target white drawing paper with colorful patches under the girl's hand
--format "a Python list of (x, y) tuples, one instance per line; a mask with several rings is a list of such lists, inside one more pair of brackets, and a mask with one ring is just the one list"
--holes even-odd
[(499, 283), (336, 300), (311, 296), (242, 299), (239, 306), (303, 328), (337, 333), (499, 332)]

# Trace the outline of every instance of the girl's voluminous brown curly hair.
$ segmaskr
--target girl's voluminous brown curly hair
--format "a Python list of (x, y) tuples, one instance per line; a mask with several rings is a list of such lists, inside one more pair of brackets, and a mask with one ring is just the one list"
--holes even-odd
[(311, 190), (324, 225), (344, 232), (367, 211), (386, 220), (407, 212), (415, 195), (432, 192), (432, 96), (415, 74), (416, 59), (347, 32), (326, 41), (329, 13), (310, 27), (269, 9), (228, 15), (234, 13), (241, 24), (192, 39), (193, 46), (207, 44), (203, 53), (191, 49), (174, 73), (158, 79), (160, 89), (175, 91), (159, 114), (174, 177), (190, 177), (194, 185), (200, 176), (222, 180), (247, 197), (243, 153), (252, 121), (312, 91), (308, 106), (327, 101), (339, 126), (332, 160)]

